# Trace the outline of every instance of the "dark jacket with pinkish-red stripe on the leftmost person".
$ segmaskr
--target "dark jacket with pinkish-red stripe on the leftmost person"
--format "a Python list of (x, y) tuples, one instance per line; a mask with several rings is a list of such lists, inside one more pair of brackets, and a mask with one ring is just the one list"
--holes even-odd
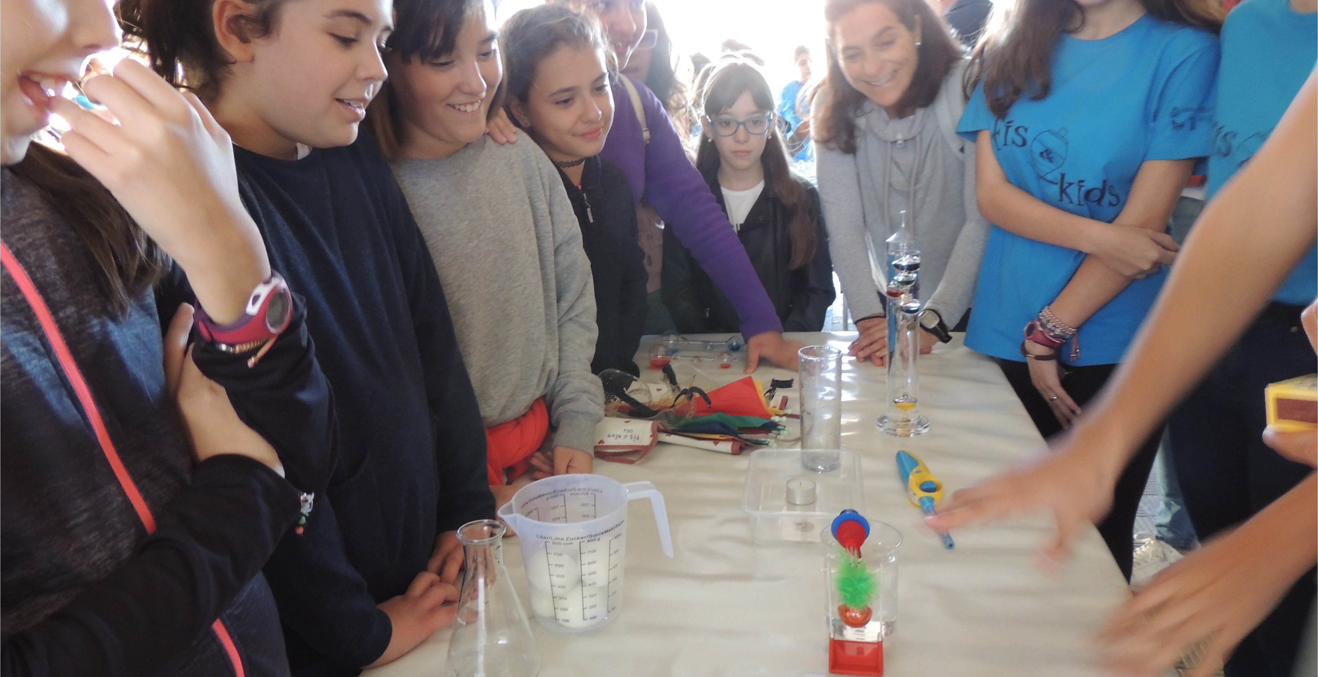
[(156, 294), (116, 312), (72, 227), (25, 179), (3, 173), (5, 244), (50, 307), (156, 531), (146, 533), (37, 316), (4, 273), (0, 674), (233, 674), (211, 628), (216, 618), (246, 674), (287, 674), (260, 569), (298, 515), (297, 489), (323, 490), (335, 448), (306, 306), (295, 304), (289, 329), (252, 367), (210, 344), (194, 352), (279, 453), (289, 481), (245, 456), (198, 464), (161, 364), (162, 324), (178, 302), (195, 303), (186, 279), (175, 269)]

